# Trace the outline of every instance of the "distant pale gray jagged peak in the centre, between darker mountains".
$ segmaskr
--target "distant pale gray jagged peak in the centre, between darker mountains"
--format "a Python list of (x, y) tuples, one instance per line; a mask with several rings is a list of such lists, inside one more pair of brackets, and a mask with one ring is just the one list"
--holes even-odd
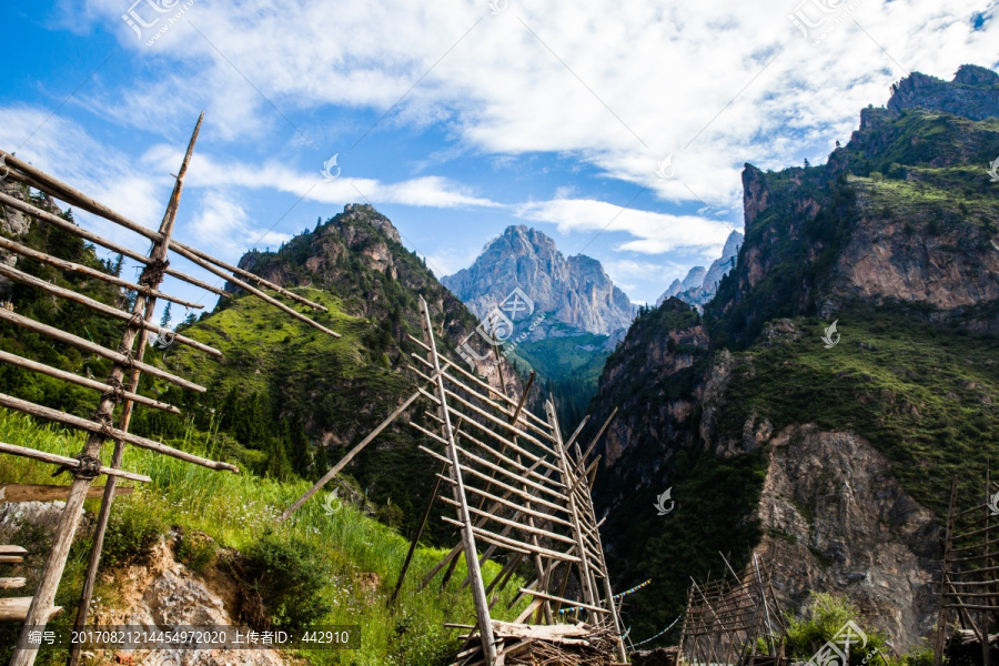
[[(565, 258), (555, 241), (527, 226), (509, 226), (468, 269), (441, 282), (477, 316), (485, 316), (519, 287), (548, 322), (609, 335), (635, 315), (628, 296), (614, 286), (601, 262)], [(554, 323), (553, 322), (553, 323)]]

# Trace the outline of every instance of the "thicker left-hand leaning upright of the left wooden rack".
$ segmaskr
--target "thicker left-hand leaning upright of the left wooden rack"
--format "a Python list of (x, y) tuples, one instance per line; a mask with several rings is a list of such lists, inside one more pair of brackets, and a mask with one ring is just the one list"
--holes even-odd
[[(202, 114), (202, 118), (203, 115), (204, 114)], [(194, 139), (201, 127), (201, 118), (198, 119), (194, 135), (188, 147), (188, 157), (185, 157), (185, 161), (193, 150)], [(150, 254), (151, 261), (142, 272), (142, 276), (139, 280), (140, 284), (144, 284), (150, 289), (158, 289), (160, 286), (167, 269), (167, 250), (172, 233), (173, 224), (171, 220), (171, 223), (163, 230), (162, 244), (155, 246)], [(132, 313), (137, 320), (141, 320), (145, 315), (145, 305), (147, 303), (143, 299), (135, 299), (135, 305)], [(125, 327), (121, 340), (121, 346), (119, 347), (123, 354), (131, 352), (135, 335), (141, 330), (140, 326), (131, 322)], [(120, 385), (121, 379), (124, 376), (128, 369), (130, 369), (129, 364), (115, 363), (111, 369), (111, 376), (108, 383)], [(97, 413), (93, 416), (94, 423), (100, 424), (101, 428), (110, 430), (111, 414), (115, 404), (117, 400), (114, 396), (104, 396), (101, 398)], [(38, 589), (36, 589), (34, 596), (31, 599), (31, 607), (28, 609), (28, 616), (24, 618), (24, 626), (21, 628), (21, 635), (18, 638), (18, 644), (14, 648), (13, 657), (11, 657), (10, 666), (33, 666), (34, 659), (38, 656), (38, 646), (32, 645), (29, 642), (30, 634), (33, 630), (44, 628), (48, 623), (49, 614), (51, 613), (53, 602), (56, 601), (56, 592), (59, 587), (59, 582), (62, 579), (62, 572), (65, 569), (70, 546), (73, 543), (77, 526), (83, 514), (83, 501), (87, 498), (87, 492), (90, 490), (91, 482), (95, 476), (93, 466), (100, 465), (100, 453), (107, 438), (108, 436), (104, 432), (91, 433), (80, 454), (80, 462), (83, 463), (83, 465), (73, 471), (73, 483), (65, 502), (65, 508), (59, 518), (56, 535), (52, 539), (52, 549), (49, 552), (44, 568), (42, 569)]]

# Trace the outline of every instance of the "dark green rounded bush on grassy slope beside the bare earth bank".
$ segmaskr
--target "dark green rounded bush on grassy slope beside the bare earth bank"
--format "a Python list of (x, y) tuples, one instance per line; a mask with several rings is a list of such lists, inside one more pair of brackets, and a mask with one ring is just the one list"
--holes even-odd
[(333, 567), (314, 544), (266, 535), (246, 548), (245, 556), (248, 582), (274, 626), (300, 629), (332, 610), (322, 592)]

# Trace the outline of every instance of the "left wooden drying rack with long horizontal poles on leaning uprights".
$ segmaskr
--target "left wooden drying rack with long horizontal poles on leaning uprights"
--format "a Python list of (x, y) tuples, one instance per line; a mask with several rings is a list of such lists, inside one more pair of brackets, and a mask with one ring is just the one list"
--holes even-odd
[[(98, 515), (93, 546), (91, 548), (90, 562), (84, 581), (83, 595), (80, 602), (79, 612), (77, 614), (78, 627), (82, 627), (87, 623), (87, 613), (90, 606), (91, 595), (93, 594), (93, 584), (97, 576), (98, 564), (100, 562), (103, 537), (107, 531), (111, 505), (117, 494), (115, 481), (117, 478), (128, 478), (140, 482), (151, 481), (151, 478), (149, 478), (148, 476), (133, 474), (120, 468), (124, 454), (125, 443), (132, 444), (134, 446), (140, 446), (142, 448), (148, 448), (150, 451), (155, 451), (157, 453), (160, 453), (162, 455), (175, 457), (188, 463), (208, 467), (210, 470), (239, 472), (239, 470), (234, 465), (231, 465), (229, 463), (211, 461), (188, 452), (167, 446), (160, 442), (154, 442), (145, 437), (130, 434), (128, 432), (134, 403), (141, 403), (149, 407), (163, 410), (165, 412), (171, 412), (174, 414), (180, 413), (180, 411), (172, 405), (161, 403), (157, 400), (152, 400), (137, 393), (141, 373), (148, 373), (158, 379), (191, 391), (195, 391), (199, 393), (205, 392), (204, 386), (201, 386), (194, 382), (188, 381), (183, 377), (176, 376), (173, 373), (143, 362), (145, 349), (149, 343), (149, 333), (162, 333), (160, 331), (160, 327), (152, 323), (157, 299), (163, 299), (173, 303), (178, 303), (180, 305), (184, 305), (186, 307), (201, 307), (201, 305), (196, 303), (191, 303), (183, 299), (171, 296), (160, 291), (160, 285), (163, 279), (169, 275), (200, 289), (204, 289), (213, 294), (218, 294), (219, 296), (231, 296), (231, 294), (229, 294), (224, 290), (221, 290), (214, 285), (199, 280), (198, 278), (188, 275), (170, 268), (169, 253), (173, 252), (174, 254), (186, 259), (194, 265), (229, 281), (230, 283), (239, 286), (245, 292), (252, 294), (253, 296), (261, 299), (262, 301), (285, 312), (297, 321), (304, 322), (310, 326), (329, 335), (339, 336), (333, 331), (326, 329), (314, 320), (300, 314), (295, 310), (291, 309), (278, 299), (264, 293), (261, 290), (272, 290), (278, 292), (278, 294), (281, 296), (285, 296), (299, 303), (309, 305), (313, 310), (325, 311), (326, 309), (319, 303), (314, 303), (299, 294), (281, 287), (280, 285), (273, 284), (262, 278), (253, 275), (248, 271), (230, 265), (195, 248), (191, 248), (173, 239), (173, 228), (176, 220), (176, 212), (178, 205), (180, 203), (181, 192), (183, 190), (184, 175), (186, 174), (188, 164), (191, 161), (191, 155), (194, 150), (194, 143), (198, 139), (198, 133), (201, 129), (203, 118), (204, 114), (202, 113), (201, 118), (198, 119), (198, 124), (195, 125), (194, 132), (191, 137), (191, 141), (188, 144), (188, 150), (184, 154), (180, 171), (175, 176), (176, 180), (173, 186), (173, 192), (167, 205), (167, 211), (163, 215), (163, 221), (160, 224), (159, 231), (152, 231), (150, 229), (147, 229), (145, 226), (142, 226), (141, 224), (132, 222), (124, 215), (111, 210), (102, 203), (94, 201), (87, 194), (73, 189), (71, 185), (59, 181), (58, 179), (49, 175), (48, 173), (44, 173), (39, 169), (33, 168), (31, 164), (16, 158), (10, 153), (0, 151), (0, 159), (2, 159), (2, 161), (8, 167), (8, 176), (11, 181), (22, 183), (24, 185), (28, 185), (29, 188), (34, 188), (36, 190), (59, 199), (71, 206), (75, 206), (77, 209), (93, 213), (94, 215), (98, 215), (152, 242), (152, 248), (149, 254), (141, 254), (113, 241), (101, 238), (97, 233), (93, 233), (92, 231), (89, 231), (82, 226), (78, 226), (73, 222), (64, 220), (59, 215), (54, 215), (49, 211), (42, 210), (30, 202), (21, 201), (16, 196), (11, 196), (7, 193), (0, 192), (0, 204), (20, 211), (21, 213), (30, 215), (37, 220), (53, 224), (90, 243), (100, 245), (112, 252), (117, 252), (122, 256), (127, 256), (144, 265), (144, 269), (138, 282), (131, 283), (114, 275), (109, 275), (101, 271), (97, 271), (89, 266), (83, 266), (60, 258), (44, 254), (31, 248), (27, 248), (21, 243), (18, 243), (17, 241), (0, 239), (0, 249), (7, 250), (8, 252), (13, 252), (20, 256), (47, 263), (67, 272), (73, 272), (97, 280), (102, 280), (121, 289), (132, 290), (137, 293), (134, 306), (132, 307), (131, 312), (125, 312), (111, 305), (97, 302), (72, 290), (63, 289), (43, 280), (39, 280), (16, 268), (7, 265), (0, 266), (0, 275), (3, 275), (4, 278), (14, 280), (33, 289), (38, 289), (50, 294), (54, 299), (62, 299), (65, 301), (82, 304), (101, 313), (104, 316), (119, 320), (121, 322), (124, 322), (125, 324), (121, 344), (117, 350), (111, 350), (98, 345), (89, 340), (84, 340), (71, 333), (62, 331), (58, 327), (49, 326), (20, 314), (16, 314), (13, 309), (10, 306), (0, 307), (0, 320), (2, 321), (7, 321), (28, 331), (32, 331), (40, 335), (50, 337), (59, 343), (75, 346), (77, 349), (80, 349), (85, 353), (95, 354), (113, 362), (110, 376), (105, 381), (99, 382), (89, 377), (81, 377), (79, 375), (68, 373), (59, 369), (50, 367), (37, 361), (23, 359), (16, 354), (7, 352), (0, 353), (0, 362), (17, 365), (32, 372), (39, 372), (51, 377), (60, 379), (100, 392), (100, 400), (98, 403), (97, 412), (91, 418), (81, 418), (79, 416), (67, 414), (58, 410), (52, 410), (43, 405), (38, 405), (29, 401), (19, 400), (6, 394), (0, 394), (0, 406), (17, 410), (26, 414), (31, 414), (32, 416), (39, 418), (61, 423), (63, 425), (68, 425), (70, 427), (74, 427), (89, 433), (89, 437), (87, 440), (87, 444), (83, 447), (83, 451), (75, 458), (0, 443), (0, 453), (28, 457), (54, 465), (61, 465), (69, 470), (73, 475), (72, 485), (69, 486), (69, 488), (67, 488), (65, 491), (65, 508), (63, 509), (58, 527), (56, 528), (52, 549), (50, 551), (48, 559), (46, 561), (46, 565), (41, 574), (41, 581), (34, 592), (34, 596), (30, 599), (30, 606), (24, 616), (24, 626), (21, 630), (20, 638), (18, 639), (17, 649), (14, 650), (13, 657), (10, 662), (11, 666), (31, 666), (34, 663), (38, 654), (38, 644), (31, 643), (31, 634), (37, 635), (39, 630), (44, 629), (44, 626), (52, 614), (52, 603), (56, 598), (56, 591), (62, 578), (62, 573), (65, 568), (70, 545), (72, 544), (73, 536), (75, 535), (77, 527), (82, 516), (83, 501), (88, 496), (90, 496), (90, 486), (93, 480), (103, 474), (108, 476), (108, 481), (102, 492), (102, 504), (100, 513)], [(250, 284), (251, 282), (256, 286)], [(211, 356), (222, 356), (222, 353), (219, 350), (200, 343), (196, 340), (192, 340), (185, 335), (173, 334), (172, 332), (171, 335), (179, 344), (199, 350)], [(128, 384), (123, 383), (127, 374), (130, 374)], [(112, 414), (114, 412), (114, 408), (119, 404), (122, 405), (122, 410), (119, 425), (118, 427), (114, 427)], [(108, 440), (114, 440), (115, 444), (111, 464), (104, 465), (100, 460), (100, 454), (104, 442), (107, 442)], [(23, 605), (24, 602), (20, 603)], [(79, 659), (80, 650), (79, 648), (74, 648), (71, 653), (70, 658), (71, 666), (78, 664)]]

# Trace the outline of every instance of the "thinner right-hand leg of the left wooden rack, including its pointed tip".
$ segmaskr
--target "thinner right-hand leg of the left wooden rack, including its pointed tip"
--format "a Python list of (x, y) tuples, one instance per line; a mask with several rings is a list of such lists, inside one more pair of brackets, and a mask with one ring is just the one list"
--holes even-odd
[[(188, 142), (188, 152), (184, 154), (184, 159), (181, 162), (180, 171), (176, 174), (176, 180), (173, 183), (173, 192), (170, 194), (170, 202), (167, 204), (167, 211), (163, 213), (163, 221), (160, 223), (160, 238), (165, 239), (169, 230), (173, 229), (173, 225), (176, 221), (176, 211), (180, 204), (181, 193), (184, 189), (184, 176), (188, 174), (188, 164), (191, 161), (191, 155), (194, 151), (194, 142), (198, 139), (198, 132), (201, 129), (201, 121), (204, 119), (204, 112), (201, 113), (201, 117), (198, 119), (198, 124), (194, 127), (194, 133), (191, 137), (191, 141)], [(157, 242), (157, 244), (169, 243), (169, 241)], [(150, 251), (150, 256), (155, 252), (157, 245)], [(157, 296), (154, 292), (147, 292), (145, 295), (145, 312), (142, 315), (142, 321), (144, 324), (149, 324), (152, 322), (153, 312), (155, 311), (157, 305)], [(149, 326), (145, 325), (139, 332), (139, 343), (137, 347), (137, 356), (140, 361), (145, 357), (147, 344), (149, 343)], [(129, 389), (134, 392), (139, 389), (139, 379), (140, 373), (138, 369), (132, 369), (132, 375), (129, 379)], [(121, 408), (121, 417), (119, 420), (119, 430), (122, 432), (129, 432), (129, 425), (132, 422), (132, 410), (134, 403), (133, 401), (127, 401)], [(111, 466), (120, 467), (122, 460), (124, 458), (124, 441), (121, 438), (114, 440), (114, 453), (111, 456)], [(101, 552), (104, 547), (104, 536), (108, 532), (108, 521), (111, 517), (111, 506), (114, 504), (114, 485), (113, 481), (108, 480), (108, 484), (104, 486), (104, 494), (101, 498), (101, 508), (98, 512), (97, 525), (94, 527), (93, 541), (90, 546), (90, 558), (87, 563), (87, 574), (83, 579), (83, 592), (80, 595), (80, 606), (77, 608), (77, 620), (74, 628), (77, 630), (82, 630), (84, 626), (87, 626), (87, 615), (90, 612), (90, 602), (93, 598), (93, 586), (97, 582), (97, 573), (98, 567), (101, 564)], [(68, 666), (78, 666), (80, 664), (80, 657), (82, 656), (82, 644), (74, 643), (70, 648), (70, 658), (68, 662)]]

